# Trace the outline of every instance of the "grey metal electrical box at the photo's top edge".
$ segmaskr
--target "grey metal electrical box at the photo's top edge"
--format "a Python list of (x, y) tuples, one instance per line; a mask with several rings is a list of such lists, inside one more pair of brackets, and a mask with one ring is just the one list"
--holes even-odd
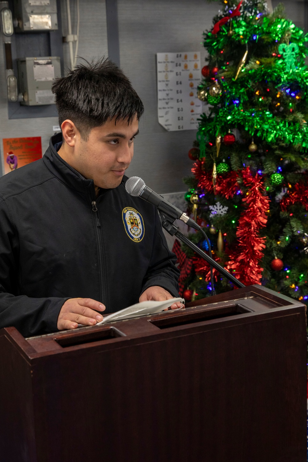
[(57, 30), (57, 0), (14, 0), (16, 32)]

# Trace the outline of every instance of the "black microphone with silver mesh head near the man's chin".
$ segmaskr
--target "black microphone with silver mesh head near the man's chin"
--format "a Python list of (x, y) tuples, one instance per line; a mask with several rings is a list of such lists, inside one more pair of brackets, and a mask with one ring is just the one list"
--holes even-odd
[(201, 229), (200, 226), (197, 225), (193, 219), (189, 218), (186, 213), (183, 213), (179, 208), (166, 201), (163, 196), (158, 195), (153, 191), (153, 189), (146, 186), (145, 182), (139, 178), (139, 176), (131, 176), (128, 178), (125, 183), (125, 189), (129, 195), (141, 197), (141, 199), (155, 205), (160, 212), (169, 215), (174, 220), (182, 220), (186, 223), (186, 225), (197, 231)]

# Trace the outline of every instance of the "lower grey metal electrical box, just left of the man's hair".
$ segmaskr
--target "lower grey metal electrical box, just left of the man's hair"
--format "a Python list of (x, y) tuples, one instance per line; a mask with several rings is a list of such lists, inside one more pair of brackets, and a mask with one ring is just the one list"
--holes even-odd
[(61, 76), (59, 56), (43, 56), (39, 58), (19, 58), (18, 83), (19, 91), (25, 106), (42, 106), (54, 104), (51, 86), (54, 79)]

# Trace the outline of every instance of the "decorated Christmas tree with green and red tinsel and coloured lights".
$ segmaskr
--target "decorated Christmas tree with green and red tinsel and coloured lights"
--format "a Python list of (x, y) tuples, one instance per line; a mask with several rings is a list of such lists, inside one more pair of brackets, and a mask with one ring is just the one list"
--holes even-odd
[[(224, 0), (204, 33), (207, 103), (189, 151), (190, 212), (211, 253), (245, 285), (308, 298), (308, 38), (264, 0)], [(201, 233), (189, 236), (208, 251)], [(176, 241), (189, 299), (234, 288)]]

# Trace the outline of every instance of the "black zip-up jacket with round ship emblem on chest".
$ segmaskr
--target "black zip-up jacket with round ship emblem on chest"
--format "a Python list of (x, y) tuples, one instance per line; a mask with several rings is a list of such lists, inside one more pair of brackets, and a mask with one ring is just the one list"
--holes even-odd
[(155, 207), (127, 194), (126, 177), (96, 197), (93, 181), (55, 151), (61, 139), (0, 178), (0, 328), (24, 336), (56, 331), (68, 298), (94, 298), (110, 313), (151, 286), (178, 296)]

